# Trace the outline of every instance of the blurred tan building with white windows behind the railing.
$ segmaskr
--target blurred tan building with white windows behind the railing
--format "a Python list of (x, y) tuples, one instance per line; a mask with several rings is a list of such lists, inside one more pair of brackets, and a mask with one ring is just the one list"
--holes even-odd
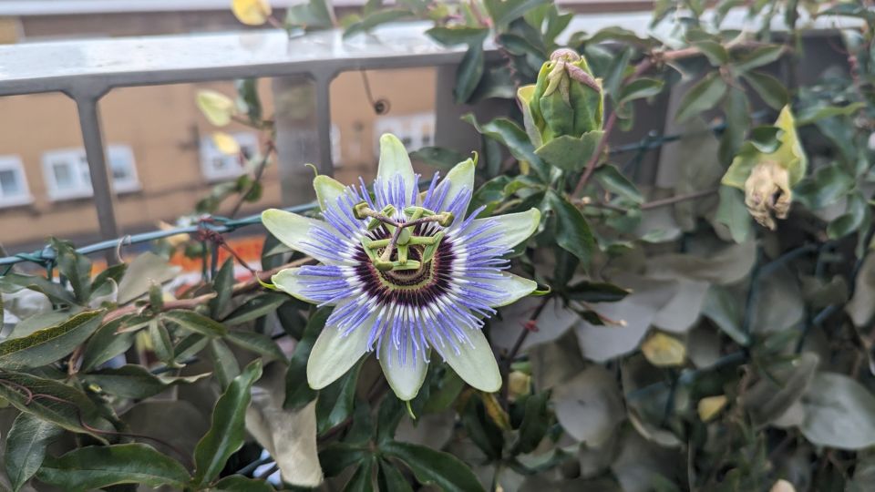
[[(27, 0), (0, 2), (0, 42), (67, 38), (153, 36), (241, 29), (216, 0)], [(276, 2), (274, 2), (276, 4)], [(282, 14), (280, 14), (282, 15)], [(192, 43), (197, 37), (192, 36)], [(2, 67), (0, 67), (2, 73)], [(333, 158), (339, 179), (374, 172), (376, 139), (391, 132), (417, 149), (434, 133), (434, 69), (365, 74), (373, 97), (385, 98), (378, 115), (365, 78), (348, 72), (331, 87)], [(416, 87), (416, 90), (410, 90)], [(233, 96), (232, 81), (113, 90), (101, 101), (103, 131), (118, 224), (124, 233), (155, 229), (190, 213), (211, 187), (234, 179), (239, 159), (214, 148), (216, 130), (195, 107), (201, 88)], [(259, 90), (264, 114), (273, 114), (271, 84)], [(73, 102), (61, 94), (0, 97), (0, 244), (9, 252), (38, 247), (49, 235), (79, 244), (98, 239), (88, 163)], [(264, 135), (239, 124), (222, 128), (247, 152)], [(262, 200), (242, 213), (280, 204), (275, 166), (263, 179)], [(232, 204), (229, 204), (229, 207)], [(221, 213), (222, 210), (220, 210)], [(227, 210), (225, 210), (227, 211)]]

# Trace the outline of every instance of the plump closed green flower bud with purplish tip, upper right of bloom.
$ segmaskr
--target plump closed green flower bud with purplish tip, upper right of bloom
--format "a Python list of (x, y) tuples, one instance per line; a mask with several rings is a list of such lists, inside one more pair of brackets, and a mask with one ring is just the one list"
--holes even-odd
[(540, 67), (534, 86), (518, 93), (526, 131), (535, 147), (553, 138), (602, 129), (602, 80), (592, 77), (586, 59), (567, 48), (557, 49)]

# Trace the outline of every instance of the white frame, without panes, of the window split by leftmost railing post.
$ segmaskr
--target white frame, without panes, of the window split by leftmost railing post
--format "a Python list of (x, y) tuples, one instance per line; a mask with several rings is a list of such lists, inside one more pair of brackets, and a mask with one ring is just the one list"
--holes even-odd
[[(129, 166), (127, 179), (112, 178), (112, 164), (118, 159), (123, 159)], [(94, 195), (91, 189), (91, 170), (88, 168), (88, 159), (85, 149), (55, 149), (43, 153), (43, 176), (46, 179), (46, 190), (49, 200), (75, 200), (89, 198)], [(57, 185), (55, 176), (55, 164), (65, 163), (70, 169), (70, 176), (74, 186), (64, 190)], [(116, 193), (130, 193), (139, 191), (139, 178), (137, 177), (137, 163), (134, 159), (134, 151), (127, 145), (112, 144), (107, 146), (107, 166), (110, 178), (112, 178), (112, 190)]]

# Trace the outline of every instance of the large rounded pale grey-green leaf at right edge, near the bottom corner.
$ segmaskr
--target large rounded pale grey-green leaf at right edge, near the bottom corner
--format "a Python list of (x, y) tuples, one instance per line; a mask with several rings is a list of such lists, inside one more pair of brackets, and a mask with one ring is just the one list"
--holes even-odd
[(854, 379), (818, 372), (802, 405), (799, 430), (813, 444), (855, 451), (875, 445), (875, 396)]

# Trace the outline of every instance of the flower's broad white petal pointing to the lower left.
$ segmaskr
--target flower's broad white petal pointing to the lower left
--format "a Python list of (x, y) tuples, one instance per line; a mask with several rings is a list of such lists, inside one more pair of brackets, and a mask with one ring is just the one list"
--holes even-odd
[(332, 325), (325, 325), (316, 338), (310, 358), (307, 359), (307, 383), (313, 389), (332, 384), (355, 365), (367, 352), (367, 339), (376, 314), (368, 316), (352, 333)]

